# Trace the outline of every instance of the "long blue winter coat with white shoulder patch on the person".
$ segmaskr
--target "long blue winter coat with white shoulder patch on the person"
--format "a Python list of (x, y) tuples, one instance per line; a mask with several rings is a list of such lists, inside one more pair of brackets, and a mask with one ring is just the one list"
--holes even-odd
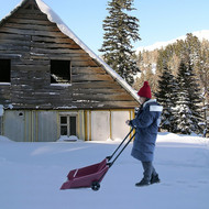
[(162, 110), (163, 107), (155, 99), (151, 99), (143, 103), (135, 119), (130, 121), (136, 131), (131, 153), (136, 160), (153, 161)]

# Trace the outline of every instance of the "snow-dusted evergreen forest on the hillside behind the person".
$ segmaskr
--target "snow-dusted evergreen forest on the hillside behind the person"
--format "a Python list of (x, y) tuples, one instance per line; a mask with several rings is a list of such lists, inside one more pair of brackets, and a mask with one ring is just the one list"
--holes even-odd
[(136, 56), (141, 73), (133, 88), (147, 80), (163, 105), (162, 129), (183, 134), (207, 134), (209, 103), (209, 42), (188, 33), (165, 48)]

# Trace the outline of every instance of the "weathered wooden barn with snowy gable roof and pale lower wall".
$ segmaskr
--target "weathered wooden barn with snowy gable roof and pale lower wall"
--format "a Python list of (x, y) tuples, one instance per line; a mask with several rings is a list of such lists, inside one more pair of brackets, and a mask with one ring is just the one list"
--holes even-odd
[(123, 139), (133, 89), (42, 0), (0, 21), (0, 134), (13, 141)]

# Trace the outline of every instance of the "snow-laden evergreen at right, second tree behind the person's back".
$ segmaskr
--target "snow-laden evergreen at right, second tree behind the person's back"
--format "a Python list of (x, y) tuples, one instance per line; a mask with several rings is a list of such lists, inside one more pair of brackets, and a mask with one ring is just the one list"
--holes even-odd
[(193, 65), (188, 58), (185, 61), (182, 59), (177, 75), (177, 130), (184, 134), (199, 133), (200, 94)]

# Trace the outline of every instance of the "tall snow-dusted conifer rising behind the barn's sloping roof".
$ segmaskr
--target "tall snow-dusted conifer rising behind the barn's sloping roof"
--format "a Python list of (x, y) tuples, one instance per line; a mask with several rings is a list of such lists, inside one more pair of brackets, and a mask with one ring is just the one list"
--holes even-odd
[(132, 41), (140, 40), (139, 20), (128, 15), (135, 10), (132, 4), (134, 0), (111, 0), (108, 2), (109, 15), (103, 20), (103, 59), (110, 65), (128, 84), (132, 85), (139, 70), (133, 58), (134, 51)]

